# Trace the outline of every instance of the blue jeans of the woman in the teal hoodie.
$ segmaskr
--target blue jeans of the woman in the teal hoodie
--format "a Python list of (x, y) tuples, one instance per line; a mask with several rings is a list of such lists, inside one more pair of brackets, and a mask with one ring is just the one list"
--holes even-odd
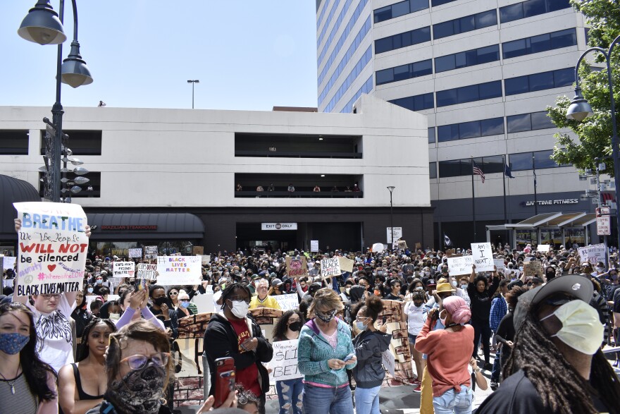
[(323, 388), (304, 384), (304, 414), (353, 414), (349, 385)]

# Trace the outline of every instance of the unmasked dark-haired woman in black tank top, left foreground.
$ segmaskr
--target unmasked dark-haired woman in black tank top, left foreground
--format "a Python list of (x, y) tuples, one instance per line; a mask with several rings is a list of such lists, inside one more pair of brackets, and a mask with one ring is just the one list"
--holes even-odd
[(85, 327), (77, 348), (77, 363), (58, 372), (58, 403), (61, 413), (84, 414), (101, 403), (106, 392), (104, 357), (116, 327), (110, 319), (94, 318)]

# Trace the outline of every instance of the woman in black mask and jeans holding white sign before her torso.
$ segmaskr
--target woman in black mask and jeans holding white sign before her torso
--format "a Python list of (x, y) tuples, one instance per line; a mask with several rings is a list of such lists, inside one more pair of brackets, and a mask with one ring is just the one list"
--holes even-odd
[[(294, 341), (299, 338), (299, 331), (306, 323), (304, 315), (299, 310), (287, 310), (278, 319), (278, 323), (273, 327), (273, 341)], [(293, 414), (302, 413), (302, 398), (304, 391), (304, 381), (302, 378), (287, 379), (286, 381), (276, 381), (275, 391), (278, 392), (278, 403), (280, 403), (280, 414), (288, 414), (292, 410)]]

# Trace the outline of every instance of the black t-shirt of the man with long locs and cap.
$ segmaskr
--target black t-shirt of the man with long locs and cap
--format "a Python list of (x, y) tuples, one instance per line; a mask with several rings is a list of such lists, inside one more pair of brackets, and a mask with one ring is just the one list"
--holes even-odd
[[(609, 410), (596, 396), (592, 396), (594, 406), (600, 413)], [(476, 414), (554, 414), (543, 406), (543, 399), (538, 395), (532, 382), (518, 371), (502, 382), (500, 388), (488, 396)]]

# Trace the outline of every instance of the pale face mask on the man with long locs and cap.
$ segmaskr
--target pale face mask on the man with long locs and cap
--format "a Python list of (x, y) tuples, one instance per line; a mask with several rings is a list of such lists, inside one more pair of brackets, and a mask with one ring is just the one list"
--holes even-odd
[(555, 315), (562, 322), (562, 329), (557, 331), (557, 339), (566, 343), (575, 351), (594, 355), (600, 349), (605, 327), (600, 323), (598, 312), (583, 300), (571, 300), (540, 319)]

